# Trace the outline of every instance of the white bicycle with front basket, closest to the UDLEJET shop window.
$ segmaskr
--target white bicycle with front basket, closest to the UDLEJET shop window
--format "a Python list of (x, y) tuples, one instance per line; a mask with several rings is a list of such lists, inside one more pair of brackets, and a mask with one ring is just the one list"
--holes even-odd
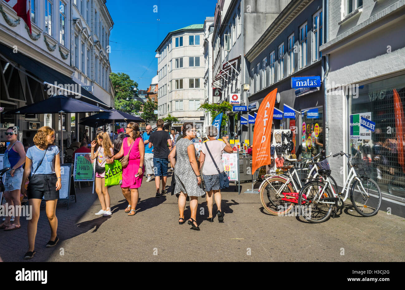
[[(354, 156), (343, 151), (333, 155), (333, 157), (344, 155), (349, 159), (347, 165), (350, 171), (341, 193), (336, 194), (333, 190), (328, 180), (330, 170), (326, 169), (318, 170), (318, 174), (324, 177), (323, 180), (312, 180), (304, 184), (299, 193), (298, 204), (301, 205), (301, 212), (305, 219), (313, 223), (324, 222), (333, 209), (335, 209), (334, 214), (337, 210), (343, 209), (349, 191), (350, 200), (356, 212), (362, 216), (377, 214), (382, 200), (381, 190), (377, 182), (367, 178), (371, 170), (368, 168), (367, 161), (363, 164), (361, 159), (356, 159), (359, 152), (357, 151)], [(350, 184), (352, 184), (351, 187)]]

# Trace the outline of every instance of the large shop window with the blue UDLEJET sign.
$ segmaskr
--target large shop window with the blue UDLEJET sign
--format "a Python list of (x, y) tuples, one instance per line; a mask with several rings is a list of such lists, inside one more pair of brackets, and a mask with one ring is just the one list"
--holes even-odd
[[(351, 153), (361, 151), (361, 162), (371, 168), (369, 177), (382, 193), (405, 198), (405, 77), (362, 85), (348, 101)], [(373, 123), (374, 131), (368, 125)]]

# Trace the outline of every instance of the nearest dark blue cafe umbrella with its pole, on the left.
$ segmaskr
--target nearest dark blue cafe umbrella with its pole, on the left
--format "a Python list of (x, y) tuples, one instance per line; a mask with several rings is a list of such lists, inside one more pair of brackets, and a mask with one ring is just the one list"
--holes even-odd
[(60, 117), (60, 146), (63, 163), (63, 135), (62, 135), (62, 113), (83, 113), (83, 112), (108, 112), (107, 109), (88, 104), (79, 99), (67, 97), (65, 95), (55, 95), (43, 101), (23, 106), (15, 110), (3, 112), (7, 114), (56, 114)]

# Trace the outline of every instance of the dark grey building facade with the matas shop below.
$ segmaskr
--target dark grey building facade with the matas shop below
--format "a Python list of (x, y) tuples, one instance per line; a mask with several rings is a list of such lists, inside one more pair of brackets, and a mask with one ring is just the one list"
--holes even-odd
[[(322, 0), (292, 0), (246, 53), (250, 68), (249, 102), (260, 105), (268, 93), (277, 89), (275, 108), (283, 112), (287, 105), (296, 113), (292, 118), (283, 115), (282, 119), (273, 119), (274, 129), (291, 128), (294, 152), (305, 158), (323, 149), (324, 92), (322, 85), (314, 89), (293, 89), (292, 78), (319, 76), (322, 80), (324, 68), (319, 51), (322, 16)], [(318, 142), (314, 138), (316, 124), (320, 128)], [(253, 132), (254, 124), (251, 140)]]

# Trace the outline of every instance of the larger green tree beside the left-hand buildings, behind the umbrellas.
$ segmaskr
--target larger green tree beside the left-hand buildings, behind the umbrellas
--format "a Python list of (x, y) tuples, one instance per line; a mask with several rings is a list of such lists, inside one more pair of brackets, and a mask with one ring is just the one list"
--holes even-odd
[(142, 103), (133, 99), (134, 89), (138, 88), (138, 83), (132, 80), (128, 74), (122, 72), (117, 74), (112, 72), (110, 79), (115, 93), (115, 108), (128, 114), (139, 112)]

